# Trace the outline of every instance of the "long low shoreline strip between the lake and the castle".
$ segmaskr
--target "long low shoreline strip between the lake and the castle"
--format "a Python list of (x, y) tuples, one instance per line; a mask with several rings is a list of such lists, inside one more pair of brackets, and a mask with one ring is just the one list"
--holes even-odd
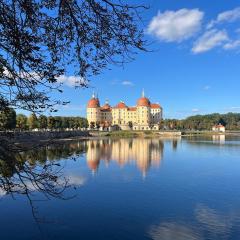
[[(119, 138), (181, 138), (181, 137), (204, 137), (204, 136), (239, 136), (240, 132), (212, 132), (212, 131), (196, 131), (196, 132), (180, 132), (180, 131), (114, 131), (114, 132), (91, 132), (91, 131), (73, 131), (73, 132), (27, 132), (23, 136), (13, 136), (0, 134), (2, 141), (6, 140), (17, 146), (44, 145), (69, 141), (84, 141), (94, 139), (119, 139)], [(70, 134), (69, 134), (70, 133)], [(42, 136), (43, 134), (43, 136)]]

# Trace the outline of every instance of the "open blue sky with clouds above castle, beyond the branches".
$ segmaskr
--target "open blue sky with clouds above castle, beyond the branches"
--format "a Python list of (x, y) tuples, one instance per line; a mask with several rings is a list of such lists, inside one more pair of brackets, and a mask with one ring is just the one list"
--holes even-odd
[(74, 89), (74, 76), (64, 76), (61, 98), (71, 103), (56, 115), (85, 116), (94, 89), (101, 103), (135, 105), (143, 88), (165, 118), (240, 112), (240, 1), (145, 2), (145, 37), (154, 51), (104, 70), (88, 89)]

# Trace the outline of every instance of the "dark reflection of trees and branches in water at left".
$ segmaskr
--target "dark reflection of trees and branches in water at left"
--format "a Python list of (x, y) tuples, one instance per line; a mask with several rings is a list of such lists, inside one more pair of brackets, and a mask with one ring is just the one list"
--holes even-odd
[(25, 195), (34, 219), (37, 223), (41, 222), (36, 206), (39, 200), (66, 200), (72, 197), (65, 196), (65, 190), (71, 186), (71, 182), (64, 177), (63, 166), (56, 160), (78, 154), (82, 150), (83, 146), (76, 143), (23, 151), (10, 141), (0, 139), (1, 192), (12, 197), (16, 194)]

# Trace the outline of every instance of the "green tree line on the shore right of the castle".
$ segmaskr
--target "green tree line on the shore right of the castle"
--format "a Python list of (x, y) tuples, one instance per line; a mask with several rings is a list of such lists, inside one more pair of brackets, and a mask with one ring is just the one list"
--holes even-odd
[(171, 130), (212, 130), (216, 124), (222, 124), (226, 130), (240, 130), (240, 113), (195, 115), (186, 119), (165, 119), (161, 128)]

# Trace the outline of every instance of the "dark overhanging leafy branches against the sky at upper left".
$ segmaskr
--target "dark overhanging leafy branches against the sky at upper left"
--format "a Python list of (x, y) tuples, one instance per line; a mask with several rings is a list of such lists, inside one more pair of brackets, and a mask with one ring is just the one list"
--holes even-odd
[(141, 10), (121, 0), (0, 0), (0, 110), (55, 111), (71, 66), (85, 87), (109, 64), (145, 50)]

